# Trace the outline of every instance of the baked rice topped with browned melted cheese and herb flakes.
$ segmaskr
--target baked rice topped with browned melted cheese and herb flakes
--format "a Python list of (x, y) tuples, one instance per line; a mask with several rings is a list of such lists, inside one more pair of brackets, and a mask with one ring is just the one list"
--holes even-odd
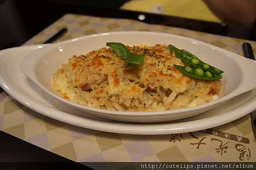
[(165, 111), (202, 105), (218, 99), (220, 80), (188, 77), (168, 45), (126, 46), (144, 54), (143, 65), (131, 64), (113, 48), (73, 56), (53, 75), (57, 93), (72, 102), (111, 111)]

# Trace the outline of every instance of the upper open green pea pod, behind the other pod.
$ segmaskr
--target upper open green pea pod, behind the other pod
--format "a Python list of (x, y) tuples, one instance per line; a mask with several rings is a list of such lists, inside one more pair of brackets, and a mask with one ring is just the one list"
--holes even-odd
[(204, 71), (209, 71), (212, 74), (222, 74), (223, 71), (219, 70), (218, 68), (212, 67), (211, 65), (202, 62), (198, 57), (191, 54), (189, 51), (181, 51), (180, 49), (176, 48), (173, 45), (169, 45), (169, 49), (173, 50), (176, 57), (179, 57), (183, 62), (189, 63), (189, 65), (195, 68), (201, 68)]

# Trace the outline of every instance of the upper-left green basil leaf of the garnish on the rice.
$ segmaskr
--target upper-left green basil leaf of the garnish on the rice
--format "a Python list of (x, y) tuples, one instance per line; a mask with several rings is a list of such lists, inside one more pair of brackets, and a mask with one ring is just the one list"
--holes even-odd
[(107, 42), (107, 46), (112, 47), (116, 55), (118, 55), (122, 59), (125, 59), (130, 55), (128, 48), (120, 42)]

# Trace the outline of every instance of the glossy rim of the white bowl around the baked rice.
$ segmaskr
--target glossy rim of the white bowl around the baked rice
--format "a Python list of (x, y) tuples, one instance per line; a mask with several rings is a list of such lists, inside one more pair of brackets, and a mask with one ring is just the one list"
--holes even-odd
[[(199, 40), (195, 40), (195, 39), (191, 39), (191, 38), (188, 38), (188, 37), (182, 37), (182, 36), (178, 36), (178, 35), (175, 35), (175, 34), (167, 34), (167, 33), (161, 33), (161, 32), (150, 32), (150, 31), (117, 31), (117, 32), (106, 32), (106, 33), (99, 33), (99, 34), (92, 34), (92, 35), (87, 35), (87, 36), (83, 36), (83, 37), (78, 37), (78, 38), (73, 38), (71, 40), (65, 40), (65, 41), (62, 41), (62, 42), (57, 42), (57, 43), (54, 43), (54, 44), (49, 44), (49, 45), (45, 45), (43, 46), (42, 48), (39, 48), (35, 51), (32, 51), (31, 53), (29, 53), (24, 59), (23, 61), (21, 62), (20, 64), (20, 68), (22, 70), (22, 72), (27, 76), (29, 77), (33, 82), (35, 82), (38, 86), (40, 86), (44, 91), (46, 91), (48, 94), (50, 94), (51, 96), (61, 100), (62, 102), (68, 104), (68, 105), (71, 105), (75, 108), (79, 108), (81, 109), (82, 111), (90, 111), (90, 113), (92, 112), (96, 112), (96, 113), (104, 113), (104, 114), (108, 114), (108, 115), (111, 115), (111, 116), (142, 116), (141, 113), (143, 113), (143, 116), (165, 116), (165, 115), (176, 115), (176, 114), (180, 114), (180, 113), (185, 113), (185, 112), (190, 112), (190, 111), (196, 111), (196, 110), (201, 110), (201, 109), (204, 109), (204, 108), (208, 108), (208, 107), (211, 107), (211, 106), (217, 106), (217, 105), (220, 105), (221, 103), (227, 101), (227, 97), (229, 97), (229, 99), (232, 99), (233, 97), (235, 96), (238, 96), (239, 95), (239, 92), (237, 92), (237, 88), (239, 86), (241, 86), (241, 82), (239, 82), (239, 84), (237, 85), (236, 89), (232, 92), (230, 92), (228, 95), (225, 95), (225, 96), (221, 96), (220, 98), (212, 101), (212, 102), (208, 102), (206, 104), (203, 104), (203, 105), (198, 105), (198, 106), (194, 106), (194, 107), (190, 107), (190, 108), (178, 108), (178, 109), (174, 109), (174, 110), (166, 110), (166, 111), (147, 111), (147, 112), (141, 112), (141, 111), (138, 111), (138, 112), (135, 112), (135, 111), (108, 111), (108, 110), (104, 110), (104, 109), (99, 109), (99, 108), (93, 108), (93, 107), (89, 107), (89, 106), (85, 106), (85, 105), (80, 105), (80, 104), (77, 104), (75, 102), (71, 102), (67, 99), (64, 99), (62, 98), (61, 96), (58, 96), (57, 94), (53, 93), (52, 91), (50, 91), (47, 87), (45, 87), (44, 85), (42, 85), (37, 77), (33, 77), (33, 78), (36, 78), (36, 79), (33, 79), (32, 77), (30, 77), (27, 72), (26, 72), (26, 69), (24, 68), (25, 67), (25, 61), (28, 60), (28, 59), (34, 59), (35, 60), (35, 54), (37, 54), (37, 59), (40, 59), (40, 55), (39, 54), (44, 54), (45, 52), (49, 52), (51, 51), (52, 49), (54, 48), (59, 48), (61, 47), (61, 45), (64, 45), (64, 44), (68, 44), (68, 43), (72, 43), (74, 41), (77, 41), (77, 40), (82, 40), (82, 39), (87, 39), (87, 38), (90, 38), (90, 37), (99, 37), (99, 36), (104, 36), (104, 35), (111, 35), (111, 34), (161, 34), (161, 35), (166, 35), (166, 36), (170, 36), (170, 37), (177, 37), (177, 38), (180, 38), (180, 39), (183, 39), (183, 40), (186, 40), (186, 41), (193, 41), (195, 42), (196, 44), (199, 44), (199, 45), (204, 45), (206, 47), (213, 47), (215, 48), (215, 50), (217, 51), (220, 51), (222, 52), (223, 54), (225, 55), (228, 55), (228, 54), (231, 54), (233, 55), (234, 57), (238, 57), (238, 58), (244, 58), (236, 53), (233, 53), (231, 51), (227, 51), (227, 50), (224, 50), (222, 48), (219, 48), (219, 47), (216, 47), (214, 45), (211, 45), (211, 44), (208, 44), (208, 43), (205, 43), (205, 42), (201, 42)], [(38, 54), (39, 53), (39, 54)], [(254, 63), (253, 63), (254, 64)], [(35, 75), (35, 73), (34, 73)], [(251, 89), (250, 89), (251, 90)], [(248, 90), (249, 91), (249, 90)], [(242, 93), (245, 93), (247, 91), (243, 91)], [(240, 93), (240, 94), (242, 94)], [(157, 114), (156, 114), (157, 113)]]

